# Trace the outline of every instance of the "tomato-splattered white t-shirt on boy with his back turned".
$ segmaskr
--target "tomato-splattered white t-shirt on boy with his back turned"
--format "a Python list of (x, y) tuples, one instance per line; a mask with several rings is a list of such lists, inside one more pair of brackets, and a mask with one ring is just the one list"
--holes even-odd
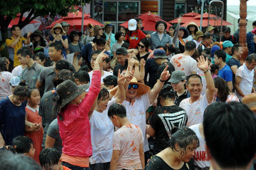
[(120, 150), (116, 170), (142, 169), (139, 155), (143, 135), (139, 126), (129, 124), (114, 133), (113, 150)]

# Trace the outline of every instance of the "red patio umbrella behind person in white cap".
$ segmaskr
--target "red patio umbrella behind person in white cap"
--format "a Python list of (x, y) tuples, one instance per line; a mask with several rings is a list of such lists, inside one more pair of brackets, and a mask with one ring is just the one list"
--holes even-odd
[[(142, 20), (142, 26), (144, 27), (144, 31), (156, 31), (155, 29), (155, 25), (157, 21), (164, 21), (162, 19), (160, 19), (159, 17), (154, 17), (153, 15), (144, 15), (144, 16), (140, 16), (139, 17)], [(166, 21), (164, 21), (167, 24), (167, 28), (169, 28), (170, 26), (172, 26), (171, 24), (167, 23)], [(120, 24), (120, 26), (124, 26), (125, 28), (128, 28), (128, 21)]]

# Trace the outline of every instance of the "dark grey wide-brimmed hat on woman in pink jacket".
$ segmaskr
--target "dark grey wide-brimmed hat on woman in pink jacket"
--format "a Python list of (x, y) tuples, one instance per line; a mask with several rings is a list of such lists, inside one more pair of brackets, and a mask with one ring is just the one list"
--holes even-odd
[(66, 104), (82, 94), (86, 89), (89, 88), (89, 86), (89, 83), (78, 86), (72, 80), (66, 80), (60, 83), (56, 89), (59, 98), (55, 98), (52, 114), (55, 115), (56, 113), (59, 113), (59, 111), (65, 107)]

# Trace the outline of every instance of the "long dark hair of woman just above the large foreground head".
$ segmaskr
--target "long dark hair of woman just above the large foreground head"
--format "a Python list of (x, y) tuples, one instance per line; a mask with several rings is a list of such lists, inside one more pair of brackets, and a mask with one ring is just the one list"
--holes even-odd
[(215, 88), (218, 89), (217, 96), (221, 102), (226, 102), (227, 96), (230, 93), (229, 87), (227, 82), (221, 77), (215, 77), (213, 79)]

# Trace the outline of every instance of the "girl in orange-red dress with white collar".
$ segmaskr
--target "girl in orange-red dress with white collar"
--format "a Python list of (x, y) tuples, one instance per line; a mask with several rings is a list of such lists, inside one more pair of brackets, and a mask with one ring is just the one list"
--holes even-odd
[[(40, 103), (40, 93), (36, 87), (28, 87), (29, 93), (27, 97), (27, 101), (29, 104), (26, 106), (26, 117), (25, 120), (31, 122), (31, 123), (37, 123), (42, 124), (42, 117), (38, 115), (39, 111), (39, 103)], [(43, 142), (43, 128), (41, 126), (40, 129), (37, 129), (36, 132), (34, 132), (33, 129), (25, 126), (25, 136), (32, 139), (34, 143), (35, 148), (35, 161), (39, 163), (39, 153), (42, 150), (42, 142)]]

